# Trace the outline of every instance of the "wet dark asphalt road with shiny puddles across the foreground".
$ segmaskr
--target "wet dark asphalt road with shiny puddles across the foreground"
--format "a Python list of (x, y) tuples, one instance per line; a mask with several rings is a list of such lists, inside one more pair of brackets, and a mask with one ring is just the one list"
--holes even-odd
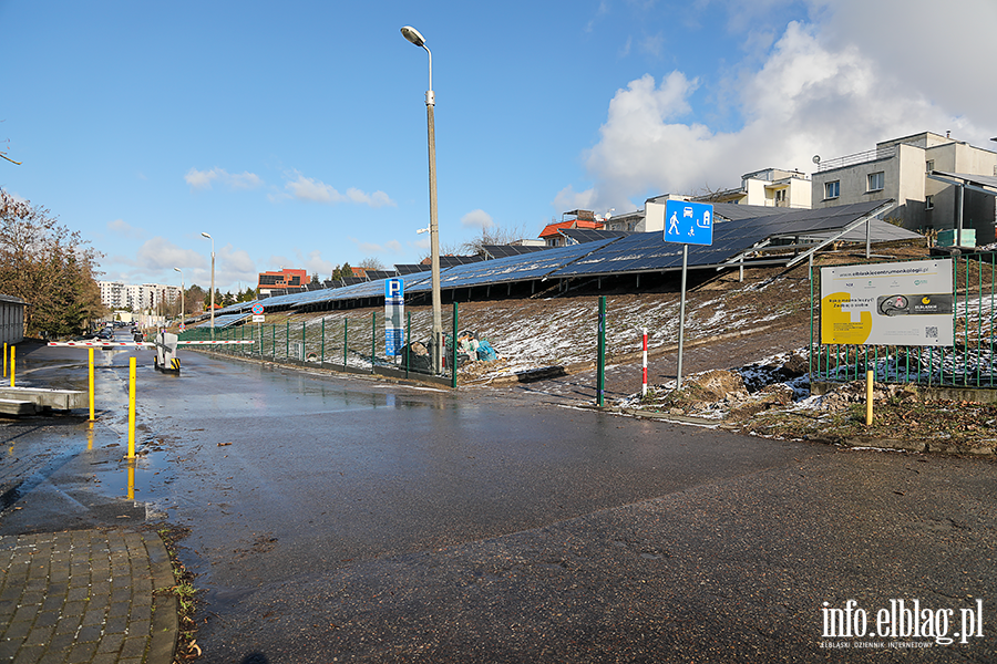
[[(78, 353), (40, 349), (22, 375), (79, 384)], [(4, 486), (22, 484), (0, 532), (188, 527), (203, 661), (997, 658), (991, 461), (626, 419), (535, 386), (450, 394), (197, 353), (166, 376), (138, 351), (127, 500), (127, 355), (97, 353), (92, 444), (75, 417), (6, 425)], [(825, 601), (874, 626), (891, 600), (957, 620), (976, 598), (966, 644), (822, 637)]]

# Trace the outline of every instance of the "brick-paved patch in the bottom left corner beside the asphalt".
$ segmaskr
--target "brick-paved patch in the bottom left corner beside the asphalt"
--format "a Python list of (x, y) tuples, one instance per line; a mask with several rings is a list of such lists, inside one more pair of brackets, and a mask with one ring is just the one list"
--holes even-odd
[(76, 530), (0, 537), (0, 662), (168, 664), (176, 600), (158, 536)]

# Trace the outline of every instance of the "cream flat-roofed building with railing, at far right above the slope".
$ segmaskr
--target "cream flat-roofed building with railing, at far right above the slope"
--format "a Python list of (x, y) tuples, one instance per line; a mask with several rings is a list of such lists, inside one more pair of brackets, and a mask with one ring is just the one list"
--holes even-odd
[[(876, 148), (821, 160), (813, 174), (813, 207), (865, 200), (897, 201), (886, 212), (909, 230), (925, 232), (956, 227), (958, 187), (928, 177), (933, 172), (997, 175), (997, 154), (949, 136), (923, 132), (876, 144)], [(975, 229), (976, 243), (994, 241), (994, 197), (967, 189), (963, 228)]]

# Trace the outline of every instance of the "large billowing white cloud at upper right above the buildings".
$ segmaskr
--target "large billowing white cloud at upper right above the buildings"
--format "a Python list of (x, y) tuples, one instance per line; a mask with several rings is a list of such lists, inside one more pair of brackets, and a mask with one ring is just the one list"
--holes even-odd
[[(924, 131), (950, 129), (989, 147), (994, 129), (985, 127), (997, 91), (954, 75), (953, 62), (994, 60), (997, 42), (987, 32), (997, 3), (946, 6), (945, 21), (926, 29), (924, 17), (937, 11), (931, 7), (811, 0), (813, 22), (775, 30), (761, 60), (769, 28), (752, 28), (744, 43), (759, 51), (741, 63), (739, 77), (701, 95), (740, 112), (742, 125), (729, 132), (686, 121), (693, 97), (701, 103), (699, 80), (672, 71), (660, 83), (650, 74), (631, 81), (609, 102), (599, 141), (585, 155), (592, 188), (565, 187), (557, 209), (634, 209), (652, 195), (737, 186), (758, 168), (808, 172), (815, 154), (833, 158)], [(736, 19), (729, 30), (750, 23)]]

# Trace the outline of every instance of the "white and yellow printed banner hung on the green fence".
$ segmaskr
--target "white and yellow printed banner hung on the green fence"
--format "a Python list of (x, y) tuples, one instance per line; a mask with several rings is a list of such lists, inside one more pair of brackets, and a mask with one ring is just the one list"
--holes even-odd
[(948, 346), (952, 259), (821, 268), (821, 343)]

